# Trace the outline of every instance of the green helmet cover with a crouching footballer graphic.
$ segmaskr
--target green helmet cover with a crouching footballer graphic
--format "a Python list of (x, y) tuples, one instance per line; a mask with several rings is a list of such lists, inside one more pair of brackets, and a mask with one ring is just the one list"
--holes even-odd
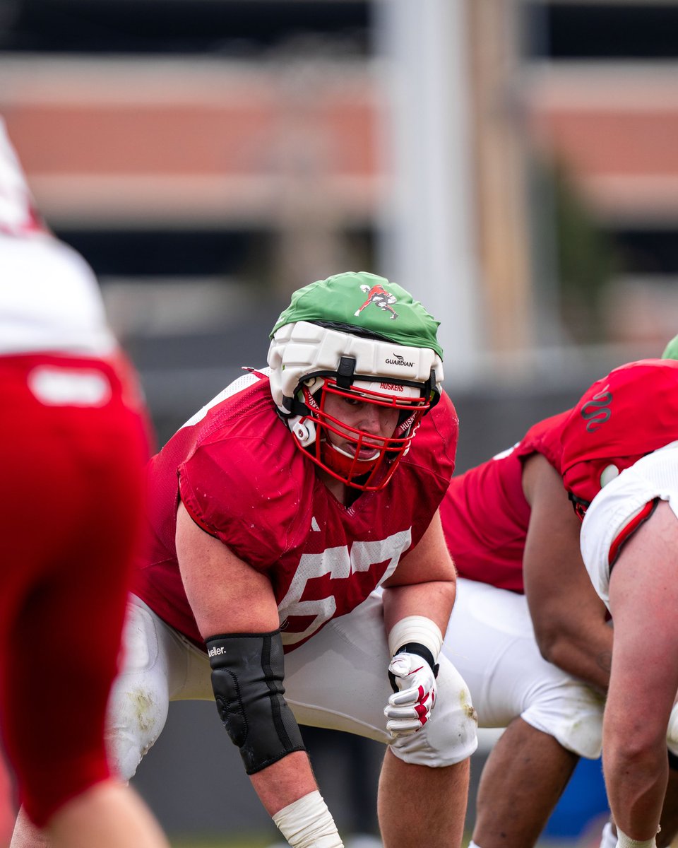
[(430, 348), (442, 359), (437, 339), (440, 321), (397, 283), (366, 271), (346, 271), (297, 289), (270, 338), (281, 326), (297, 321), (351, 325), (406, 347)]

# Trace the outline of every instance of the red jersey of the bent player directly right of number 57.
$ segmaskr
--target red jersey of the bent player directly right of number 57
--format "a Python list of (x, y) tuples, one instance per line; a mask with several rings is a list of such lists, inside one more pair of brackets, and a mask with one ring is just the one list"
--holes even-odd
[(525, 591), (523, 552), (530, 505), (523, 460), (544, 455), (560, 473), (561, 432), (570, 410), (539, 421), (513, 448), (453, 477), (440, 507), (447, 548), (460, 577)]

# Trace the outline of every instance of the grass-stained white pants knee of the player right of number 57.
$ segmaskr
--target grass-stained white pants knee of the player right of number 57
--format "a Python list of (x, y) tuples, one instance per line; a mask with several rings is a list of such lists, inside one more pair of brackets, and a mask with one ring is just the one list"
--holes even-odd
[(585, 683), (564, 676), (559, 683), (544, 689), (520, 717), (553, 736), (567, 750), (596, 760), (603, 750), (604, 706), (601, 695)]

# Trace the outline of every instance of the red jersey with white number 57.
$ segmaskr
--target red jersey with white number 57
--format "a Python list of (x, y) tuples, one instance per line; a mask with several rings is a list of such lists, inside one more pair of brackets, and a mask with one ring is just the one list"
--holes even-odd
[(181, 497), (200, 527), (270, 577), (283, 644), (292, 650), (362, 603), (419, 542), (447, 490), (457, 438), (457, 415), (443, 394), (390, 483), (344, 506), (276, 414), (268, 377), (243, 377), (151, 460), (152, 538), (135, 592), (203, 646), (176, 559)]

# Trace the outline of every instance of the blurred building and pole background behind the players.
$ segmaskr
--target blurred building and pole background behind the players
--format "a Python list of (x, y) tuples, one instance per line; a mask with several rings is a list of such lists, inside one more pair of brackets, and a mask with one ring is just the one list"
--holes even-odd
[[(367, 270), (442, 321), (463, 471), (678, 331), (676, 33), (675, 0), (2, 0), (0, 114), (160, 444), (294, 288)], [(378, 746), (308, 741), (374, 832)], [(182, 848), (275, 840), (211, 704), (136, 785)], [(601, 788), (581, 767), (547, 837), (588, 845)]]

